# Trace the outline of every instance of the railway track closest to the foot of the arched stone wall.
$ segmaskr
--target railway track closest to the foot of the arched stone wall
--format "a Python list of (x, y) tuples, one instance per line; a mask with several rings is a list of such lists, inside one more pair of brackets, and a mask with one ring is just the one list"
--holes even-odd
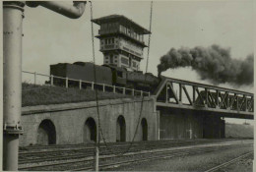
[[(140, 150), (150, 150), (156, 148), (165, 148), (165, 147), (175, 147), (175, 146), (184, 146), (184, 145), (191, 145), (191, 144), (199, 144), (199, 143), (220, 143), (223, 141), (209, 141), (209, 140), (199, 140), (199, 141), (161, 141), (161, 142), (146, 142), (146, 143), (133, 143), (130, 148), (130, 152), (136, 152)], [(114, 149), (116, 154), (124, 152), (129, 143), (110, 143)], [(31, 147), (30, 147), (31, 148)], [(57, 147), (57, 145), (49, 145), (47, 146), (38, 146), (37, 150), (36, 147), (28, 148), (28, 150), (22, 150), (19, 153), (19, 164), (26, 164), (26, 163), (38, 163), (38, 162), (45, 162), (45, 161), (56, 161), (56, 160), (65, 160), (65, 159), (81, 159), (90, 156), (94, 156), (95, 146), (88, 145), (61, 145)], [(100, 146), (100, 155), (106, 155), (111, 152), (104, 146)]]

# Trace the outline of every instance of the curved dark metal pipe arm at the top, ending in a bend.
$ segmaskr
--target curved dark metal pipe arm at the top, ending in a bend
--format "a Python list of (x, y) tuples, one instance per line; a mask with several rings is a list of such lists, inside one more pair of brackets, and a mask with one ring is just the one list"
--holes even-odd
[(58, 1), (27, 1), (26, 5), (29, 7), (37, 7), (38, 5), (45, 7), (49, 10), (52, 10), (56, 13), (59, 13), (63, 16), (66, 16), (71, 19), (80, 18), (85, 9), (87, 1), (73, 1), (73, 6), (64, 4), (63, 2)]

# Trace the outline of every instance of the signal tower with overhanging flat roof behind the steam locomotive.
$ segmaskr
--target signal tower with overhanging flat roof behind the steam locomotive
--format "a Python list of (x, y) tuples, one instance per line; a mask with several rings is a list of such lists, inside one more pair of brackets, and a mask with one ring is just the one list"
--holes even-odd
[(100, 39), (103, 64), (139, 71), (143, 48), (147, 47), (144, 34), (151, 32), (121, 15), (110, 15), (93, 22), (100, 26), (96, 37)]

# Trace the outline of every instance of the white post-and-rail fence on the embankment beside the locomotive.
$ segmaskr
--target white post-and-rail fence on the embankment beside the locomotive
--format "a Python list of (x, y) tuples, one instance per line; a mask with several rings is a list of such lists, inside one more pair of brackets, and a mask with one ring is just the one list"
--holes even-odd
[[(32, 85), (45, 85), (45, 86), (65, 86), (66, 88), (69, 87), (78, 87), (79, 89), (82, 88), (91, 88), (92, 90), (101, 90), (103, 92), (113, 92), (113, 93), (122, 93), (125, 95), (133, 95), (133, 96), (150, 96), (151, 93), (148, 91), (127, 88), (122, 86), (111, 86), (106, 84), (82, 81), (82, 80), (75, 80), (69, 78), (63, 78), (53, 75), (45, 75), (39, 73), (32, 73), (28, 71), (22, 71), (23, 74), (30, 75), (23, 76), (23, 81)], [(43, 78), (43, 79), (42, 79)]]

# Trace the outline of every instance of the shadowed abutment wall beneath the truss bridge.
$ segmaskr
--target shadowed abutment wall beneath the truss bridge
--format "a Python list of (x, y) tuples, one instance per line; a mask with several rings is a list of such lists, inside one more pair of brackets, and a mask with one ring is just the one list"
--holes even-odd
[(160, 109), (160, 140), (224, 138), (224, 120), (200, 111)]

